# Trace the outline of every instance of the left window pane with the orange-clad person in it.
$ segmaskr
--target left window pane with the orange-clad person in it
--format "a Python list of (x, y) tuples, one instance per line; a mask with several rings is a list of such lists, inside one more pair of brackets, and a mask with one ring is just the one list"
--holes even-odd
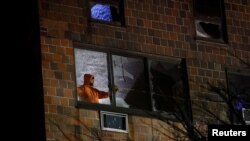
[[(110, 104), (107, 93), (109, 91), (107, 54), (75, 49), (75, 68), (78, 100)], [(86, 88), (85, 85), (89, 86), (91, 82), (94, 82), (93, 87)]]

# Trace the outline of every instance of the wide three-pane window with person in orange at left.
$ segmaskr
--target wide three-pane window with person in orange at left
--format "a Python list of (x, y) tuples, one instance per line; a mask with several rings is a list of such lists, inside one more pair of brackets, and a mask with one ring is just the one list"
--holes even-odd
[[(185, 60), (80, 48), (75, 48), (74, 53), (78, 104), (101, 109), (126, 108), (126, 111), (189, 110)], [(86, 95), (92, 90), (84, 84), (90, 81), (97, 92)], [(117, 92), (115, 86), (119, 88)]]

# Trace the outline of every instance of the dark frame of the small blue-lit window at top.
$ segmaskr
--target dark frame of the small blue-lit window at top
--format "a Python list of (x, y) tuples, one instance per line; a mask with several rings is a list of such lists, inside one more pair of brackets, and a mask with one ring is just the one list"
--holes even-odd
[[(91, 3), (105, 4), (109, 6), (117, 7), (118, 16), (120, 20), (118, 21), (105, 21), (91, 18)], [(125, 26), (125, 12), (124, 12), (124, 0), (88, 0), (88, 19), (90, 23), (100, 23), (113, 26)]]

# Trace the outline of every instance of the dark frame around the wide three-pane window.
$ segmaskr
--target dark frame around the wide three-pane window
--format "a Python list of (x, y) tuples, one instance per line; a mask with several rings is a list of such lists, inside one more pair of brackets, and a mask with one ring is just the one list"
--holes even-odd
[[(91, 51), (98, 51), (98, 52), (104, 52), (104, 53), (111, 53), (111, 54), (115, 54), (115, 55), (121, 55), (121, 56), (126, 56), (126, 57), (135, 57), (135, 58), (144, 58), (144, 60), (146, 59), (145, 62), (145, 71), (148, 72), (148, 62), (147, 59), (153, 59), (153, 60), (161, 60), (161, 61), (165, 61), (165, 62), (175, 62), (175, 63), (181, 63), (181, 65), (183, 66), (182, 69), (182, 73), (184, 74), (184, 79), (183, 79), (183, 83), (184, 83), (184, 87), (183, 87), (183, 91), (185, 93), (185, 102), (187, 105), (187, 110), (185, 111), (187, 112), (187, 116), (188, 118), (192, 119), (192, 109), (191, 109), (191, 101), (190, 101), (190, 95), (189, 95), (189, 86), (188, 86), (188, 76), (187, 76), (187, 69), (186, 69), (186, 61), (183, 58), (173, 58), (173, 57), (167, 57), (167, 56), (158, 56), (158, 55), (151, 55), (151, 54), (144, 54), (144, 53), (138, 53), (138, 52), (131, 52), (131, 51), (124, 51), (124, 50), (120, 50), (120, 49), (110, 49), (110, 48), (100, 48), (98, 46), (95, 45), (90, 45), (90, 44), (82, 44), (82, 43), (74, 43), (74, 48), (77, 49), (84, 49), (84, 50), (91, 50)], [(75, 60), (74, 60), (75, 62)], [(108, 63), (109, 64), (109, 63)], [(109, 67), (111, 67), (112, 65), (109, 64)], [(109, 71), (108, 75), (112, 75), (112, 72)], [(111, 76), (112, 77), (112, 76)], [(109, 78), (111, 78), (109, 76)], [(149, 74), (146, 74), (147, 79), (149, 79)], [(113, 80), (109, 80), (110, 84), (109, 85), (113, 85)], [(126, 113), (126, 114), (132, 114), (132, 115), (142, 115), (142, 116), (159, 116), (159, 112), (162, 113), (162, 111), (153, 111), (152, 109), (152, 97), (151, 97), (151, 93), (150, 93), (150, 88), (149, 88), (149, 80), (147, 83), (147, 87), (149, 90), (149, 93), (147, 94), (148, 96), (148, 102), (150, 104), (150, 108), (148, 110), (143, 110), (143, 109), (131, 109), (131, 108), (124, 108), (124, 107), (117, 107), (114, 105), (105, 105), (105, 104), (95, 104), (95, 103), (89, 103), (89, 102), (81, 102), (77, 100), (77, 94), (75, 93), (75, 107), (76, 108), (84, 108), (84, 109), (92, 109), (92, 110), (103, 110), (103, 111), (110, 111), (110, 112), (120, 112), (120, 113)], [(110, 86), (109, 86), (110, 88)], [(113, 97), (114, 94), (112, 94)], [(164, 113), (163, 114), (165, 117), (167, 118), (171, 118), (171, 119), (176, 119), (175, 116), (173, 116), (173, 114), (171, 113)]]

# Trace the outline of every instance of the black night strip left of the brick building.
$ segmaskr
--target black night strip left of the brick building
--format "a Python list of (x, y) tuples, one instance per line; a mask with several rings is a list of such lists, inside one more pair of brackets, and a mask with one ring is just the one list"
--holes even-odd
[(45, 141), (38, 1), (2, 5), (2, 138)]

